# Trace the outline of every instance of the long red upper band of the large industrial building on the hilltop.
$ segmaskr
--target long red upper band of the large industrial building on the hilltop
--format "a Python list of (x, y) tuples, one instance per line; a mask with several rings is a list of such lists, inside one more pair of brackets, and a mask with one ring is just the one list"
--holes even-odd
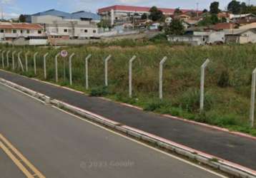
[[(148, 12), (149, 9), (151, 9), (150, 7), (142, 7), (142, 6), (109, 6), (109, 7), (105, 7), (102, 9), (99, 9), (98, 12), (99, 14), (102, 12), (106, 12), (106, 11), (111, 11), (112, 9), (114, 9), (114, 11), (139, 11), (139, 12)], [(174, 14), (175, 9), (167, 9), (167, 8), (159, 8), (160, 11), (162, 11), (164, 14)], [(189, 9), (180, 9), (183, 13), (187, 12), (187, 11), (193, 11), (193, 10), (189, 10)]]

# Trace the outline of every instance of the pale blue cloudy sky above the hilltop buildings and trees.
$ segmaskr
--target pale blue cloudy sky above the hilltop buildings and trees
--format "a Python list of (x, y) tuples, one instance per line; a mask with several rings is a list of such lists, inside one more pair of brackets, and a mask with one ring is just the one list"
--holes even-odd
[[(209, 9), (210, 3), (214, 0), (0, 0), (4, 17), (10, 18), (19, 14), (34, 14), (39, 11), (58, 9), (60, 11), (92, 11), (104, 6), (112, 5), (132, 5), (132, 6), (158, 6), (165, 8)], [(220, 8), (225, 9), (231, 0), (220, 0)], [(249, 0), (244, 0), (246, 3)], [(256, 4), (256, 0), (250, 0), (251, 4)]]

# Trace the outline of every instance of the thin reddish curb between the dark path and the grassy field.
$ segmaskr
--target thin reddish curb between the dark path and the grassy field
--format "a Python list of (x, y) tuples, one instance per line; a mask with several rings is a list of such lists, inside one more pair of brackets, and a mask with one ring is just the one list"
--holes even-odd
[[(0, 70), (2, 70), (2, 69), (0, 69)], [(8, 71), (8, 70), (2, 70), (2, 71), (6, 72), (6, 73), (11, 73), (11, 74), (19, 75), (17, 73), (12, 73), (11, 71)], [(24, 78), (28, 78), (25, 75), (20, 75), (20, 76), (22, 76)], [(39, 80), (37, 78), (29, 78), (29, 79), (36, 80), (36, 81), (38, 81), (40, 83), (45, 83), (45, 84), (48, 84), (48, 85), (53, 85), (53, 86), (55, 86), (57, 88), (64, 88), (66, 90), (73, 91), (75, 93), (79, 93), (79, 94), (82, 94), (82, 95), (87, 95), (86, 93), (83, 93), (81, 91), (74, 90), (72, 88), (68, 88), (68, 87), (65, 87), (65, 86), (57, 85), (55, 83), (50, 83), (50, 82), (47, 82), (47, 81), (44, 81), (44, 80)], [(89, 95), (87, 95), (87, 96), (89, 96)], [(111, 101), (111, 102), (117, 103), (119, 105), (124, 105), (124, 106), (129, 107), (129, 108), (134, 108), (134, 109), (137, 109), (137, 110), (143, 110), (143, 108), (140, 108), (138, 106), (134, 106), (134, 105), (130, 105), (130, 104), (127, 104), (127, 103), (118, 102), (118, 101), (115, 101), (115, 100), (110, 100), (109, 98), (104, 98), (104, 97), (98, 97), (98, 98), (100, 98), (102, 100)], [(157, 113), (154, 112), (154, 114), (157, 114)], [(227, 132), (227, 133), (232, 134), (232, 135), (237, 135), (237, 136), (240, 136), (240, 137), (246, 137), (246, 138), (249, 138), (249, 139), (252, 139), (252, 140), (256, 140), (255, 136), (248, 135), (248, 134), (242, 133), (242, 132), (230, 131), (230, 130), (228, 130), (226, 128), (223, 128), (223, 127), (218, 127), (218, 126), (215, 126), (215, 125), (208, 125), (206, 123), (196, 122), (194, 120), (187, 120), (185, 118), (176, 117), (176, 116), (172, 116), (172, 115), (166, 115), (166, 114), (165, 115), (157, 114), (157, 115), (161, 115), (162, 117), (166, 117), (167, 119), (179, 120), (179, 121), (187, 122), (187, 123), (190, 123), (190, 124), (193, 124), (193, 125), (200, 125), (202, 127), (207, 127), (207, 128), (212, 129), (212, 130), (218, 130), (218, 131), (221, 131), (221, 132)]]

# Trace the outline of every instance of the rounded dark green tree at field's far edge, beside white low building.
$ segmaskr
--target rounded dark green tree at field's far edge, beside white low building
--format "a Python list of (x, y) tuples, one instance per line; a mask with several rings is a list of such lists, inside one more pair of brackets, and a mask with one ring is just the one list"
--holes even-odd
[(183, 35), (184, 34), (184, 26), (182, 25), (182, 21), (179, 19), (173, 19), (169, 26), (165, 28), (165, 33), (167, 35)]

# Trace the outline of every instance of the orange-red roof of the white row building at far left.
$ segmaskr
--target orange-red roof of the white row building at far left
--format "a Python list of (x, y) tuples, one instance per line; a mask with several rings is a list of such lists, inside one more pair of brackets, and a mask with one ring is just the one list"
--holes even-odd
[(1, 29), (24, 29), (24, 30), (39, 30), (43, 27), (39, 24), (31, 23), (0, 23)]

